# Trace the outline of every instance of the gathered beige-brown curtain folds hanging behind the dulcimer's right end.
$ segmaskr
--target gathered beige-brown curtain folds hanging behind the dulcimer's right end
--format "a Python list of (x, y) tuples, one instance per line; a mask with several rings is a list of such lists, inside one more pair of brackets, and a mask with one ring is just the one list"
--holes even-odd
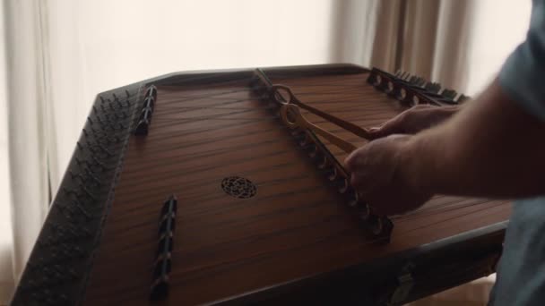
[(333, 61), (407, 71), (449, 88), (467, 88), (468, 44), (477, 21), (474, 1), (340, 3)]

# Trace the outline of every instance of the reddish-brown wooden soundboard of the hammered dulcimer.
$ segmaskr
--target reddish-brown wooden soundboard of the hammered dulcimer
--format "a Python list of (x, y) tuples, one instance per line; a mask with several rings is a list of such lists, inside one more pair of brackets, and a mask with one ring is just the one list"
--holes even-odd
[[(403, 110), (366, 82), (367, 73), (288, 77), (304, 103), (362, 127)], [(437, 196), (393, 217), (392, 241), (371, 243), (289, 129), (246, 81), (160, 86), (150, 132), (132, 136), (85, 305), (192, 305), (368, 263), (504, 221), (510, 203)], [(366, 140), (301, 110), (312, 123), (356, 145)], [(343, 160), (346, 153), (331, 146)], [(255, 183), (250, 199), (221, 189), (225, 177)], [(158, 218), (178, 200), (170, 293), (149, 302)], [(372, 276), (370, 276), (372, 277)]]

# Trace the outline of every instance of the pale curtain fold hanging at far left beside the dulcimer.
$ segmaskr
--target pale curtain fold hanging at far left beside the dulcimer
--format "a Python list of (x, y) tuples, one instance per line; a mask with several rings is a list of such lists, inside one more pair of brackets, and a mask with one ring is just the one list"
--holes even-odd
[(17, 280), (48, 209), (47, 90), (39, 2), (6, 0), (4, 4), (13, 274)]

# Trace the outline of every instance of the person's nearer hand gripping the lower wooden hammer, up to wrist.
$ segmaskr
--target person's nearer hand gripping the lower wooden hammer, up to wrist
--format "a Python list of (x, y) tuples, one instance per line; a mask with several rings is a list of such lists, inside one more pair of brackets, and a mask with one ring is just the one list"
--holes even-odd
[(404, 157), (413, 154), (412, 137), (392, 135), (373, 140), (345, 160), (352, 186), (378, 215), (402, 214), (419, 208), (432, 196), (419, 191), (402, 168)]

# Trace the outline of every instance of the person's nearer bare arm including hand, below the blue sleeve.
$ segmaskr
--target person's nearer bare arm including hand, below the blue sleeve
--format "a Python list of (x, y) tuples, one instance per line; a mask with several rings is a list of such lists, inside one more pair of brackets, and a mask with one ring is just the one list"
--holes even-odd
[(545, 194), (545, 123), (494, 81), (446, 122), (369, 142), (347, 157), (351, 183), (381, 215), (436, 193), (524, 198)]

